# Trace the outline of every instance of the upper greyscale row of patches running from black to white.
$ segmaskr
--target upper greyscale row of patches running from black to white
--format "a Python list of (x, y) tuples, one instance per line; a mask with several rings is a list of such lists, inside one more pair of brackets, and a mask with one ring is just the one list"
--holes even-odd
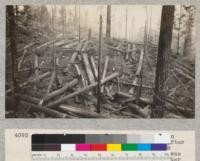
[(169, 144), (169, 134), (33, 134), (32, 144)]

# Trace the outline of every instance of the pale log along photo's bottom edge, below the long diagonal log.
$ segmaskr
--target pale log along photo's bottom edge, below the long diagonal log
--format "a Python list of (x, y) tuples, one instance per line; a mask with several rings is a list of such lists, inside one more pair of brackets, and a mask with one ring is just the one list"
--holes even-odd
[(70, 105), (59, 105), (58, 107), (59, 110), (65, 111), (65, 112), (71, 112), (74, 113), (75, 115), (78, 115), (80, 117), (85, 117), (85, 118), (106, 118), (103, 115), (100, 115), (98, 113), (95, 112), (91, 112), (88, 110), (83, 110), (81, 108), (77, 108), (77, 107), (72, 107)]

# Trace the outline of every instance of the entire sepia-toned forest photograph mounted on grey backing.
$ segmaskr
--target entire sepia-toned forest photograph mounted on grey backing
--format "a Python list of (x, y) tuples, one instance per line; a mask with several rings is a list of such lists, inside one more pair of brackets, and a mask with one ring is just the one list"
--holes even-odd
[(194, 5), (7, 5), (6, 118), (195, 118)]

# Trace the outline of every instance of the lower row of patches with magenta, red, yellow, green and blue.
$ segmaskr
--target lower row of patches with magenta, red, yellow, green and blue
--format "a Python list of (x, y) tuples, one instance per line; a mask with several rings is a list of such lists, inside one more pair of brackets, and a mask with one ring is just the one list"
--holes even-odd
[(167, 144), (32, 144), (32, 151), (167, 151)]

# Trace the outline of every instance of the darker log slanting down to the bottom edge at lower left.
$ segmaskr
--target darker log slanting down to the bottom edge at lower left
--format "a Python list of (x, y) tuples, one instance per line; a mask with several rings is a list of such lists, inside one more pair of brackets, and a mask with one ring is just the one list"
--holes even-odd
[(52, 110), (52, 109), (48, 109), (48, 108), (44, 108), (44, 107), (39, 107), (38, 105), (32, 104), (32, 103), (28, 103), (25, 101), (21, 101), (20, 103), (22, 103), (25, 106), (30, 107), (31, 110), (33, 111), (40, 111), (45, 113), (48, 116), (52, 116), (52, 117), (56, 117), (56, 118), (67, 118), (68, 116), (64, 113)]

